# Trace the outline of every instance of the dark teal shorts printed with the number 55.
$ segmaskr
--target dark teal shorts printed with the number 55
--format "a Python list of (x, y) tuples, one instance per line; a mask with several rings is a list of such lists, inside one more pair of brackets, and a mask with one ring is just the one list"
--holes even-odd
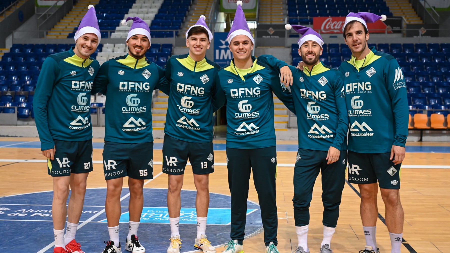
[(105, 142), (103, 146), (105, 179), (130, 177), (153, 178), (153, 142)]

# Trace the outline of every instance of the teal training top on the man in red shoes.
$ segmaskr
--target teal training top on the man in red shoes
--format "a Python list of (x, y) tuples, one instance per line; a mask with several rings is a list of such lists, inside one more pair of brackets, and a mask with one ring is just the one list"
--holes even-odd
[(92, 138), (90, 94), (100, 65), (93, 58), (79, 58), (73, 49), (49, 55), (41, 67), (33, 99), (41, 150), (54, 148), (54, 139)]

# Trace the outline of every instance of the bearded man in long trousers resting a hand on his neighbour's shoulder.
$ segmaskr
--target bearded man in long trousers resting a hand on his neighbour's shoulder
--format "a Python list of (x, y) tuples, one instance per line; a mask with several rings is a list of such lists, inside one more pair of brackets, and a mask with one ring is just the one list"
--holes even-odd
[[(287, 24), (300, 33), (298, 54), (304, 69), (287, 66), (271, 55), (261, 55), (260, 62), (273, 66), (286, 83), (293, 85), (292, 94), (298, 125), (298, 152), (294, 167), (294, 219), (297, 249), (309, 253), (309, 207), (315, 180), (322, 173), (324, 233), (320, 253), (332, 253), (331, 239), (339, 217), (339, 205), (345, 181), (347, 160), (348, 116), (343, 75), (319, 61), (324, 41), (311, 27)], [(292, 72), (291, 72), (292, 71)], [(318, 94), (318, 95), (315, 95)], [(306, 119), (305, 119), (306, 116)]]

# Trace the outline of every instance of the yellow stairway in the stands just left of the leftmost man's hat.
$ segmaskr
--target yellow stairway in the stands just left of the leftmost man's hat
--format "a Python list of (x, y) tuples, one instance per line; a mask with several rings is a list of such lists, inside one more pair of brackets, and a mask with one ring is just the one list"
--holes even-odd
[(81, 19), (86, 14), (87, 6), (89, 4), (98, 4), (99, 0), (79, 0), (56, 25), (48, 32), (49, 39), (66, 39), (67, 35), (73, 31), (73, 28), (78, 26)]

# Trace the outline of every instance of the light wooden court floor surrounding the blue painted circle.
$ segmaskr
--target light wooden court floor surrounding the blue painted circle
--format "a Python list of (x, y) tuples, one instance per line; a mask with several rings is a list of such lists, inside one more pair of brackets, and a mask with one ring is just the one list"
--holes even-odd
[[(38, 138), (0, 138), (0, 142), (27, 143), (39, 141)], [(94, 142), (103, 142), (94, 139)], [(155, 139), (155, 143), (162, 139)], [(225, 143), (216, 140), (215, 143)], [(277, 144), (296, 145), (296, 141), (279, 141)], [(23, 162), (22, 160), (44, 160), (39, 148), (17, 148), (16, 145), (0, 146), (0, 196), (52, 190), (52, 180), (47, 175), (46, 164), (40, 162)], [(414, 152), (409, 152), (413, 150)], [(88, 188), (106, 187), (103, 177), (102, 149), (94, 149), (94, 171), (88, 177)], [(278, 151), (277, 206), (278, 206), (278, 249), (280, 253), (292, 252), (297, 244), (293, 218), (293, 164), (295, 151)], [(148, 182), (148, 188), (166, 188), (167, 176), (161, 174), (162, 151), (154, 150), (153, 160), (155, 178)], [(210, 175), (210, 192), (229, 195), (225, 151), (215, 151), (215, 172)], [(223, 165), (220, 165), (223, 164)], [(409, 142), (401, 173), (401, 201), (405, 210), (404, 245), (402, 252), (444, 253), (450, 252), (450, 143)], [(187, 167), (183, 189), (195, 190), (192, 171)], [(126, 180), (124, 181), (126, 186)], [(322, 211), (320, 175), (315, 183), (313, 200), (310, 207), (311, 223), (308, 246), (313, 252), (319, 252), (322, 240)], [(346, 183), (340, 217), (332, 248), (335, 253), (359, 252), (365, 245), (361, 225), (357, 195), (358, 187)], [(250, 183), (249, 200), (258, 201), (254, 185)], [(1, 201), (0, 201), (1, 203)], [(99, 203), (101, 205), (103, 203)], [(228, 208), (228, 207), (227, 207)], [(384, 205), (378, 193), (379, 213), (384, 216)], [(0, 217), (1, 219), (1, 217)], [(169, 226), (167, 224), (167, 226)], [(1, 228), (0, 228), (1, 229)], [(208, 231), (208, 230), (207, 230)], [(49, 231), (51, 236), (51, 231)], [(140, 238), (145, 240), (144, 238)], [(0, 244), (6, 244), (0, 238)], [(224, 242), (213, 242), (222, 244)], [(380, 252), (390, 252), (387, 227), (378, 219), (377, 243)], [(264, 252), (263, 234), (244, 240), (246, 253)], [(217, 252), (222, 252), (219, 248)], [(39, 249), (30, 252), (37, 252)], [(126, 252), (124, 250), (124, 252)], [(148, 250), (148, 252), (151, 252)]]

